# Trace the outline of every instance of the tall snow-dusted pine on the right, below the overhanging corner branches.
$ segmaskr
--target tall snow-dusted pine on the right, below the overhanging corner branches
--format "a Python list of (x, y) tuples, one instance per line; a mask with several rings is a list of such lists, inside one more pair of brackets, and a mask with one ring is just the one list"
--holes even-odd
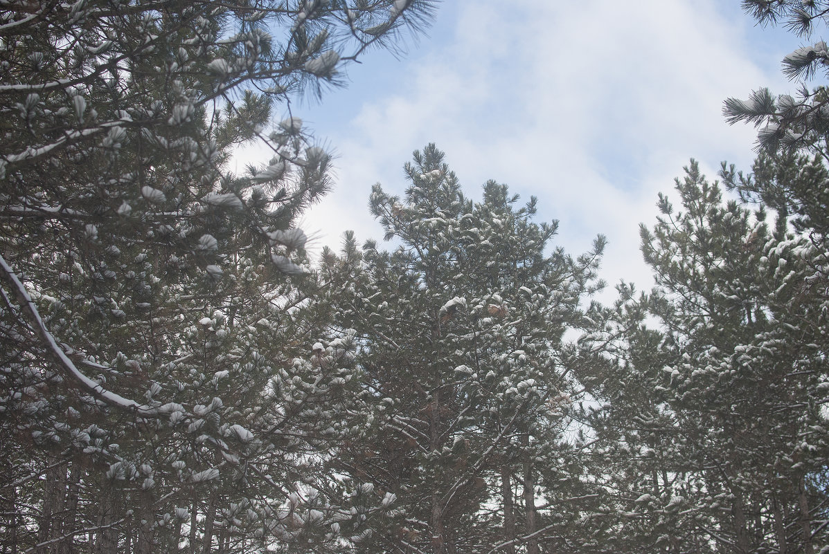
[(676, 189), (681, 210), (661, 196), (642, 226), (657, 288), (622, 287), (600, 339), (620, 340), (592, 381), (618, 518), (605, 552), (816, 552), (829, 445), (825, 316), (803, 286), (815, 248), (724, 202), (694, 162)]

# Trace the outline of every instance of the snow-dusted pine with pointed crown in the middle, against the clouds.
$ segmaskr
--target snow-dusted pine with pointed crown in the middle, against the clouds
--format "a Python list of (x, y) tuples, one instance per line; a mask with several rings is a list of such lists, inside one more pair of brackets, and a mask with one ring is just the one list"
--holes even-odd
[(558, 508), (536, 491), (570, 422), (563, 334), (599, 284), (604, 240), (550, 253), (555, 224), (532, 222), (535, 199), (517, 208), (490, 181), (473, 203), (434, 145), (405, 172), (405, 199), (371, 195), (399, 248), (349, 234), (323, 256), (347, 291), (335, 320), (356, 331), (367, 410), (342, 470), (394, 499), (354, 529), (360, 552), (538, 552)]

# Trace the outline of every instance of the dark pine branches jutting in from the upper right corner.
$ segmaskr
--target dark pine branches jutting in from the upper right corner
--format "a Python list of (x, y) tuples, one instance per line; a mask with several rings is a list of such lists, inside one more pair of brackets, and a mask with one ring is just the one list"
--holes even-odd
[[(763, 25), (783, 25), (809, 41), (829, 23), (829, 2), (802, 0), (744, 0), (744, 9)], [(763, 126), (758, 133), (760, 156), (753, 176), (744, 179), (724, 167), (725, 184), (738, 190), (744, 200), (762, 200), (784, 215), (792, 215), (795, 229), (810, 234), (822, 249), (815, 272), (829, 282), (827, 244), (827, 159), (829, 89), (809, 83), (829, 75), (829, 51), (824, 41), (801, 46), (783, 58), (783, 72), (799, 83), (796, 95), (775, 97), (768, 89), (754, 91), (749, 99), (727, 99), (725, 116), (730, 123)], [(783, 173), (781, 173), (783, 171)], [(797, 174), (797, 175), (796, 175)]]

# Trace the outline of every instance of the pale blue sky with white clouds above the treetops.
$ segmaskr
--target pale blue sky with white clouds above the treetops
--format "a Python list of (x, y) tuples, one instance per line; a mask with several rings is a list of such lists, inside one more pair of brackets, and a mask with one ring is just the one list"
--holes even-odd
[(605, 234), (611, 290), (651, 287), (638, 225), (689, 158), (712, 179), (720, 161), (749, 169), (754, 128), (727, 125), (723, 100), (792, 91), (780, 60), (802, 43), (754, 26), (739, 0), (446, 0), (436, 16), (400, 59), (373, 53), (347, 89), (294, 108), (337, 154), (336, 189), (303, 229), (318, 248), (346, 229), (381, 239), (371, 185), (402, 195), (403, 164), (435, 142), (474, 200), (488, 179), (538, 196), (570, 253)]

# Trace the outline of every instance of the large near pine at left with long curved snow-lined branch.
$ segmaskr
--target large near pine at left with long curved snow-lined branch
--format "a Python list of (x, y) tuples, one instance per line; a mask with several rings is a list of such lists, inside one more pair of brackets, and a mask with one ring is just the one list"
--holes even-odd
[[(264, 549), (333, 517), (332, 414), (308, 407), (347, 364), (291, 282), (330, 158), (291, 103), (430, 9), (7, 2), (4, 549)], [(251, 140), (273, 159), (231, 175)]]

